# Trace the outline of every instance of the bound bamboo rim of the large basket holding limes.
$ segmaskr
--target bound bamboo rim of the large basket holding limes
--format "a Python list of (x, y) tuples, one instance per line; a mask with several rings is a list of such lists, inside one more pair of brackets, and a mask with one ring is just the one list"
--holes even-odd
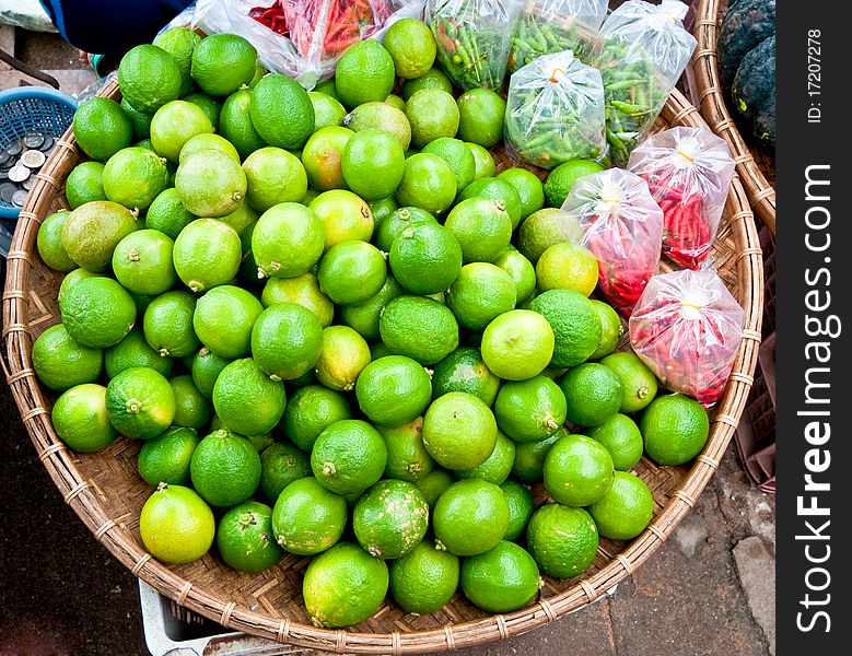
[[(116, 97), (117, 94), (118, 85), (115, 81), (100, 92), (100, 95), (108, 97)], [(673, 91), (669, 95), (662, 116), (673, 126), (707, 127), (698, 109), (677, 91)], [(221, 597), (209, 594), (203, 586), (192, 584), (154, 560), (120, 527), (116, 518), (106, 514), (97, 497), (98, 493), (103, 493), (82, 477), (71, 454), (56, 435), (49, 412), (45, 408), (30, 356), (32, 338), (27, 314), (28, 273), (40, 218), (46, 215), (50, 203), (62, 189), (61, 183), (52, 175), (66, 160), (75, 157), (77, 154), (72, 129), (69, 128), (59, 140), (58, 148), (45, 165), (44, 175), (33, 186), (21, 211), (8, 255), (2, 296), (2, 337), (5, 349), (4, 358), (0, 358), (0, 364), (39, 459), (65, 502), (74, 509), (95, 538), (136, 576), (177, 604), (225, 628), (279, 643), (336, 653), (404, 654), (445, 652), (497, 642), (555, 621), (604, 597), (665, 542), (680, 519), (696, 504), (701, 491), (719, 467), (746, 406), (760, 344), (763, 272), (762, 251), (759, 247), (754, 215), (745, 191), (735, 175), (725, 202), (725, 213), (730, 216), (731, 230), (736, 243), (735, 266), (738, 278), (744, 281), (740, 285), (740, 302), (746, 313), (744, 338), (704, 449), (673, 492), (666, 507), (623, 551), (616, 554), (598, 572), (580, 579), (557, 595), (540, 598), (524, 609), (458, 624), (447, 624), (443, 629), (394, 631), (393, 633), (318, 629), (291, 621), (289, 618), (277, 620), (268, 614), (238, 608), (234, 601), (223, 601)]]

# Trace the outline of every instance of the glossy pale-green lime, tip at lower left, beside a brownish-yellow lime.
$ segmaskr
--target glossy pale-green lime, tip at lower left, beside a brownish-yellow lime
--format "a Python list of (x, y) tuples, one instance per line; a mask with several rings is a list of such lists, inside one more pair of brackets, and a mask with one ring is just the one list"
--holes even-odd
[(323, 255), (325, 229), (316, 213), (295, 202), (283, 202), (260, 215), (252, 235), (258, 278), (295, 278), (306, 273)]

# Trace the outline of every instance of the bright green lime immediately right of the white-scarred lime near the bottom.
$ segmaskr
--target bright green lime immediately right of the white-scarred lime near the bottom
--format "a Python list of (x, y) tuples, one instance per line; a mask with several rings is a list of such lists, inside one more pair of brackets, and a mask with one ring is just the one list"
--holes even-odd
[(432, 527), (439, 549), (456, 555), (483, 553), (502, 540), (509, 527), (509, 502), (494, 483), (465, 479), (437, 499)]

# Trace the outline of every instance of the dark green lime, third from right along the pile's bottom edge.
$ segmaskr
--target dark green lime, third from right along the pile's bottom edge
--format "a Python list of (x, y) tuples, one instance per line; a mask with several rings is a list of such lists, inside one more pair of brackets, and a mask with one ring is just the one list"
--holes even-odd
[(583, 508), (548, 503), (533, 514), (526, 543), (545, 574), (573, 578), (595, 560), (597, 526)]

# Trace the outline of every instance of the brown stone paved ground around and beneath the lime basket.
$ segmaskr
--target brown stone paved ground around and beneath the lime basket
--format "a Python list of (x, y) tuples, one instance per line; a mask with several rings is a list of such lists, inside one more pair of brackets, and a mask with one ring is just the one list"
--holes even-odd
[[(77, 92), (92, 81), (55, 36), (0, 47)], [(23, 45), (22, 45), (23, 44)], [(0, 89), (16, 80), (0, 69)], [(4, 270), (3, 270), (4, 271)], [(137, 582), (61, 501), (0, 385), (0, 656), (147, 654)], [(464, 656), (774, 655), (774, 497), (732, 445), (695, 509), (616, 594)]]

